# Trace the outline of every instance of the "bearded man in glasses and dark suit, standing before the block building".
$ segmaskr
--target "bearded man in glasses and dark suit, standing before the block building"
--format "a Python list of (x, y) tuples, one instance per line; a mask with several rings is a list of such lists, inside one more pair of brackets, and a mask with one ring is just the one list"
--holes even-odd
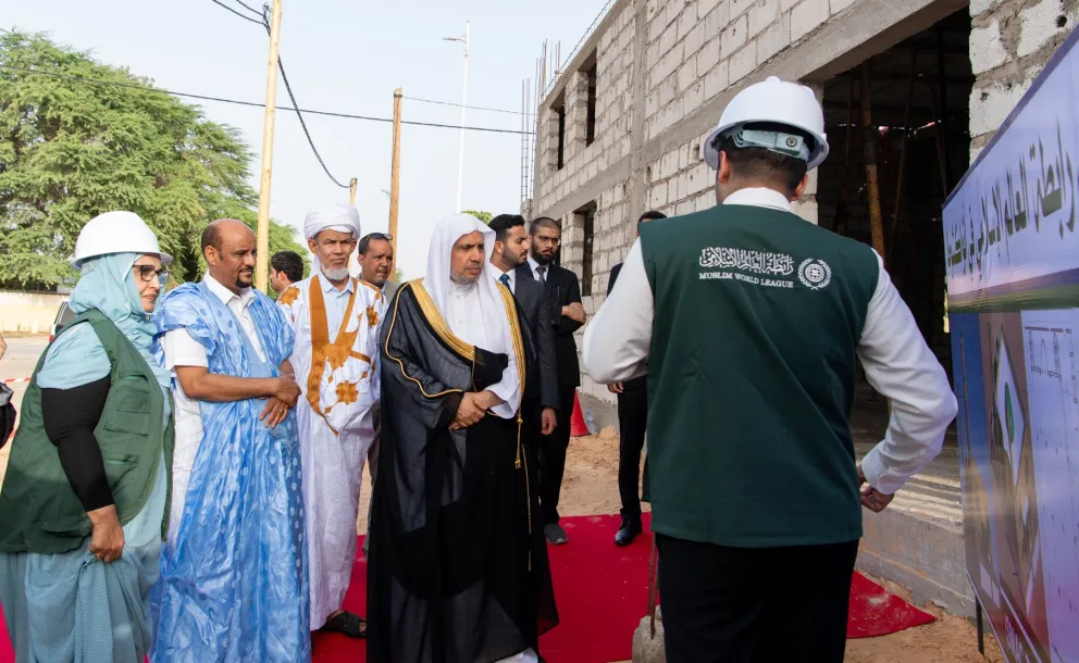
[(555, 359), (558, 370), (558, 426), (544, 437), (540, 454), (540, 508), (543, 510), (544, 535), (547, 542), (565, 543), (566, 530), (558, 524), (558, 496), (566, 472), (566, 451), (570, 446), (570, 417), (576, 388), (581, 385), (581, 367), (576, 358), (573, 333), (584, 324), (581, 286), (576, 274), (555, 264), (561, 243), (562, 229), (547, 216), (529, 224), (532, 251), (526, 272), (544, 286), (549, 303), (549, 324), (555, 332)]

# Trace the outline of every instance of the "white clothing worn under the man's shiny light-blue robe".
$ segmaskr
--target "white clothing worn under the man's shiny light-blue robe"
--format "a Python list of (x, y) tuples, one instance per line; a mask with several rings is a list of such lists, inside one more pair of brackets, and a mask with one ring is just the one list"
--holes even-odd
[[(223, 304), (228, 307), (239, 326), (250, 339), (255, 347), (255, 352), (259, 359), (265, 361), (265, 353), (262, 351), (262, 342), (255, 330), (255, 321), (248, 307), (255, 301), (255, 292), (246, 288), (236, 295), (228, 288), (214, 280), (209, 274), (203, 278), (207, 287), (213, 292)], [(165, 353), (165, 368), (172, 371), (173, 399), (175, 403), (175, 448), (173, 450), (173, 489), (172, 506), (169, 517), (170, 539), (179, 527), (179, 521), (184, 515), (184, 501), (187, 497), (187, 485), (190, 479), (191, 468), (195, 466), (195, 456), (198, 454), (199, 443), (202, 441), (202, 414), (199, 411), (199, 401), (193, 400), (184, 393), (184, 387), (176, 379), (177, 366), (210, 366), (206, 348), (191, 338), (187, 329), (173, 329), (164, 335), (162, 347)]]

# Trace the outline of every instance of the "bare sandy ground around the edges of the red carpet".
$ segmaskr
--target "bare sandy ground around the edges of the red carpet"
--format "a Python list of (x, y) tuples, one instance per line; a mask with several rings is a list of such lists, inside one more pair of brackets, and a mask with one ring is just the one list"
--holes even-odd
[[(558, 505), (563, 515), (618, 513), (618, 434), (608, 428), (600, 435), (575, 438), (570, 443), (566, 478)], [(364, 478), (359, 530), (367, 529), (369, 477)], [(647, 505), (645, 505), (647, 509)], [(892, 592), (909, 600), (909, 592), (894, 583), (873, 578)], [(991, 635), (985, 638), (985, 653), (978, 653), (978, 636), (967, 620), (944, 614), (937, 608), (919, 606), (938, 621), (881, 638), (847, 641), (849, 663), (1003, 663), (1004, 658)], [(642, 616), (644, 616), (642, 614)]]

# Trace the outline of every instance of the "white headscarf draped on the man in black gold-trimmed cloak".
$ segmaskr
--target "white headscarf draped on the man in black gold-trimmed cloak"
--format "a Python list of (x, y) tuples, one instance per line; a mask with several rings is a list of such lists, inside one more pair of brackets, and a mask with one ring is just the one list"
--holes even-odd
[[(450, 254), (454, 245), (466, 235), (479, 230), (483, 233), (483, 273), (475, 285), (479, 289), (480, 311), (473, 315), (483, 315), (483, 328), (486, 332), (486, 342), (468, 338), (464, 329), (455, 329), (449, 320), (448, 299), (455, 287), (461, 287), (450, 280)], [(509, 321), (506, 318), (506, 304), (503, 302), (499, 286), (491, 278), (491, 255), (495, 251), (495, 232), (471, 214), (451, 214), (438, 222), (431, 234), (431, 249), (427, 252), (427, 274), (423, 287), (434, 300), (443, 320), (449, 325), (455, 336), (467, 343), (480, 346), (484, 350), (498, 353), (513, 352), (513, 341), (510, 337)]]

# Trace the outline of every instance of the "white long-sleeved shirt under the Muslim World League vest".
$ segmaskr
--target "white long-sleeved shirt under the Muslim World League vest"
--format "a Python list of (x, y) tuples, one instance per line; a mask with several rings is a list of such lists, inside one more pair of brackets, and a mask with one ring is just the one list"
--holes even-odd
[[(764, 188), (736, 191), (723, 204), (791, 211), (786, 197)], [(956, 402), (947, 374), (926, 345), (880, 255), (877, 261), (880, 276), (858, 358), (869, 384), (891, 400), (892, 416), (884, 439), (866, 454), (861, 470), (870, 486), (891, 495), (940, 453)], [(584, 330), (585, 372), (603, 384), (644, 375), (654, 317), (655, 300), (638, 239), (625, 257), (610, 297)]]

